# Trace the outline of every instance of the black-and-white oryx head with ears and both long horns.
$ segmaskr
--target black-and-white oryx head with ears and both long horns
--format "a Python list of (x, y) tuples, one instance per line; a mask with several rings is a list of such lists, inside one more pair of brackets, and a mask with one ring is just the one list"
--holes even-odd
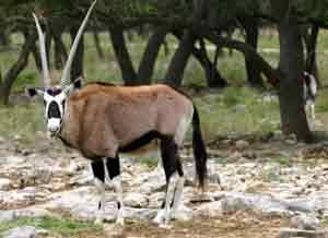
[(35, 21), (37, 34), (38, 34), (38, 40), (39, 40), (39, 51), (42, 57), (42, 67), (43, 67), (43, 87), (37, 88), (27, 88), (26, 93), (30, 97), (36, 97), (39, 96), (44, 100), (45, 105), (45, 119), (47, 123), (47, 130), (48, 134), (50, 136), (55, 136), (60, 132), (63, 116), (65, 116), (65, 108), (66, 108), (66, 102), (67, 98), (70, 96), (70, 94), (74, 91), (74, 88), (80, 87), (81, 81), (80, 78), (75, 80), (73, 83), (70, 83), (70, 69), (71, 64), (79, 45), (79, 41), (81, 39), (81, 36), (83, 34), (83, 29), (86, 25), (86, 22), (89, 20), (89, 16), (96, 3), (96, 0), (92, 3), (90, 7), (80, 28), (79, 32), (74, 38), (73, 45), (71, 47), (69, 57), (67, 59), (66, 66), (63, 68), (60, 83), (57, 86), (50, 85), (50, 76), (49, 76), (49, 69), (48, 69), (48, 61), (47, 61), (47, 55), (46, 55), (46, 44), (45, 44), (45, 34), (42, 31), (39, 21), (37, 16), (33, 13), (33, 17)]

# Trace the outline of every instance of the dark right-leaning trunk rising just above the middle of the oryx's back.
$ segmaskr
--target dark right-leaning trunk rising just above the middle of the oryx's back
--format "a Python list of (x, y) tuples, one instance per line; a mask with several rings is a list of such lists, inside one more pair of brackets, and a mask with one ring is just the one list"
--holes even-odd
[(167, 26), (159, 26), (154, 29), (153, 35), (148, 40), (142, 59), (138, 70), (138, 81), (143, 84), (150, 84), (153, 75), (155, 62), (160, 52), (160, 48), (164, 43), (167, 34)]

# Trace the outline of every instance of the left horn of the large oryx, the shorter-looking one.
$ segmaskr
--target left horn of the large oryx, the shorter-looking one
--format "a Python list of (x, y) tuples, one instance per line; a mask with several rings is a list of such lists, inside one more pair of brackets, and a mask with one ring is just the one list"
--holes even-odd
[(35, 21), (37, 35), (38, 35), (38, 45), (39, 45), (39, 52), (42, 57), (42, 66), (43, 66), (43, 84), (44, 87), (50, 86), (50, 78), (49, 78), (49, 69), (48, 69), (48, 61), (47, 61), (47, 52), (46, 52), (46, 37), (43, 33), (43, 29), (39, 25), (37, 16), (33, 13), (33, 17)]

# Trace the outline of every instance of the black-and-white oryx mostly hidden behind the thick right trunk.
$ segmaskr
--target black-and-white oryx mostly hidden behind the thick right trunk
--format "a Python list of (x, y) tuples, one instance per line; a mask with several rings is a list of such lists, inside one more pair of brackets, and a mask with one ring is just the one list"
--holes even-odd
[(304, 71), (304, 81), (303, 81), (303, 96), (304, 96), (304, 105), (305, 111), (307, 115), (309, 114), (311, 119), (315, 119), (315, 100), (318, 93), (317, 81), (315, 76), (306, 71)]

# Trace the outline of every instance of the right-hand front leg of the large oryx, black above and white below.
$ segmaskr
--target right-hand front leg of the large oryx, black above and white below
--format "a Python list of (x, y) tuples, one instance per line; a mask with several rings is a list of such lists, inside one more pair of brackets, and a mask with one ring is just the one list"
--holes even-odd
[(106, 163), (106, 178), (110, 180), (112, 186), (114, 187), (114, 191), (117, 197), (117, 217), (116, 223), (119, 225), (124, 225), (124, 203), (122, 203), (122, 188), (121, 188), (121, 177), (120, 177), (120, 165), (119, 157), (116, 158), (106, 158), (104, 160)]

